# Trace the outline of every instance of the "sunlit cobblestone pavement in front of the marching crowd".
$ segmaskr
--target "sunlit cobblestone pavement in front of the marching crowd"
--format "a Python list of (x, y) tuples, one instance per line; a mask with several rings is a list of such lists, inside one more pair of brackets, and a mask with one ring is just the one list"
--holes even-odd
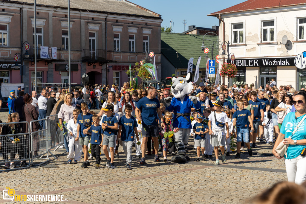
[[(213, 160), (196, 162), (192, 145), (190, 138), (187, 155), (191, 160), (185, 164), (155, 162), (153, 156), (147, 156), (147, 164), (140, 165), (133, 152), (132, 170), (125, 169), (121, 146), (120, 158), (115, 158), (116, 168), (112, 170), (95, 169), (94, 161), (85, 169), (80, 163), (67, 164), (67, 153), (58, 149), (52, 151), (58, 159), (50, 157), (51, 161), (41, 167), (1, 172), (0, 190), (8, 186), (18, 195), (60, 194), (68, 198), (67, 203), (74, 204), (249, 203), (260, 191), (287, 179), (284, 161), (271, 154), (272, 145), (258, 143), (253, 157), (242, 153), (235, 159), (231, 153), (218, 166), (214, 165), (214, 154)], [(101, 166), (105, 166), (106, 158), (104, 154), (101, 156)], [(1, 202), (7, 201), (1, 199)], [(9, 203), (19, 202), (9, 200)]]

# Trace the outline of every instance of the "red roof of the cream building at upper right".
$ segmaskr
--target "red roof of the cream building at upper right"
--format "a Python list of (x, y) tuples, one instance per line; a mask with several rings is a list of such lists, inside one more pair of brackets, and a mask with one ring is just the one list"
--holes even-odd
[(223, 9), (218, 12), (214, 12), (208, 14), (207, 16), (216, 16), (222, 13), (234, 13), (239, 11), (247, 11), (247, 10), (257, 10), (257, 9), (267, 9), (267, 8), (275, 8), (275, 7), (284, 7), (284, 6), (295, 6), (299, 4), (306, 4), (306, 0), (248, 0), (237, 4), (235, 6), (231, 6), (227, 9)]

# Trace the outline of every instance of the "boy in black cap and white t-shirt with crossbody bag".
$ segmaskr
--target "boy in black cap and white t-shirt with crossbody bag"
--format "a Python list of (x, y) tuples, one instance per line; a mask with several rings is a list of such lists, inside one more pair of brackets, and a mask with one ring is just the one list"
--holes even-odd
[(225, 130), (226, 130), (226, 139), (229, 138), (229, 125), (228, 121), (229, 118), (227, 117), (226, 113), (221, 111), (223, 106), (222, 101), (217, 100), (214, 103), (214, 112), (208, 116), (208, 127), (209, 127), (209, 134), (211, 135), (211, 144), (215, 148), (215, 156), (216, 156), (216, 163), (215, 165), (219, 165), (219, 150), (220, 147), (222, 152), (222, 162), (226, 161), (225, 154), (224, 154), (224, 146), (225, 146)]

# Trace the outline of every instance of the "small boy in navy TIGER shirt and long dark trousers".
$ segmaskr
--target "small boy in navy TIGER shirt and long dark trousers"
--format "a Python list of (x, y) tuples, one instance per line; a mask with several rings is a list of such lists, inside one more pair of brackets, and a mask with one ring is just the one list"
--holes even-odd
[(95, 168), (100, 167), (100, 153), (101, 153), (101, 147), (102, 147), (102, 138), (103, 138), (103, 129), (102, 126), (99, 125), (99, 116), (98, 115), (93, 115), (92, 116), (92, 121), (94, 125), (91, 127), (88, 127), (85, 132), (87, 131), (91, 132), (91, 154), (93, 157), (96, 159), (96, 164)]

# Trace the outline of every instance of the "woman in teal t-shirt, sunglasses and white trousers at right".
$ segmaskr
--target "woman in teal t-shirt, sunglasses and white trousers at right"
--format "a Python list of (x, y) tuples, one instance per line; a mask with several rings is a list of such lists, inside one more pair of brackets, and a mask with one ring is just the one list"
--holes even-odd
[[(289, 182), (301, 184), (306, 180), (306, 157), (301, 156), (303, 149), (306, 148), (306, 92), (304, 90), (297, 93), (293, 98), (293, 104), (297, 111), (290, 112), (285, 116), (280, 134), (275, 142), (273, 154), (281, 159), (275, 149), (284, 139), (284, 144), (289, 144), (285, 155), (285, 166)], [(293, 131), (302, 123), (294, 134)]]

